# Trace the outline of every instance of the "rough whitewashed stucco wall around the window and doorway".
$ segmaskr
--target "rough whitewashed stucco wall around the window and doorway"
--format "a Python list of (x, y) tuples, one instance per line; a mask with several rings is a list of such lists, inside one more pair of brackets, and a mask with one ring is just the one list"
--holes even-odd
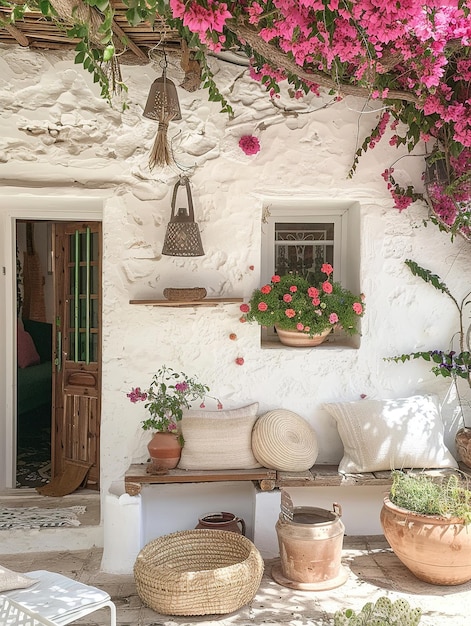
[[(148, 434), (140, 428), (144, 408), (131, 405), (126, 392), (146, 387), (162, 364), (197, 374), (225, 408), (258, 401), (260, 413), (273, 408), (299, 413), (316, 430), (319, 461), (325, 463), (338, 462), (342, 446), (323, 402), (416, 392), (445, 398), (448, 385), (426, 364), (385, 363), (383, 357), (448, 347), (457, 328), (453, 305), (414, 278), (404, 260), (412, 258), (439, 274), (461, 299), (468, 290), (463, 277), (471, 269), (469, 244), (460, 239), (452, 243), (433, 226), (424, 228), (425, 205), (416, 203), (402, 214), (393, 208), (381, 172), (403, 153), (390, 147), (387, 138), (347, 178), (355, 151), (378, 120), (378, 103), (365, 106), (350, 97), (335, 102), (327, 95), (271, 102), (244, 68), (213, 59), (234, 119), (208, 103), (204, 90), (179, 89), (182, 120), (171, 123), (169, 131), (176, 164), (150, 172), (148, 154), (157, 127), (142, 111), (150, 84), (160, 75), (158, 65), (122, 68), (129, 108), (121, 113), (100, 99), (73, 56), (0, 48), (0, 230), (8, 231), (8, 198), (15, 194), (26, 195), (34, 215), (37, 195), (63, 198), (65, 205), (68, 196), (86, 202), (99, 191), (103, 197), (105, 516), (111, 483), (123, 477), (131, 462), (147, 456)], [(168, 75), (178, 83), (177, 62), (171, 61)], [(246, 156), (238, 147), (244, 134), (259, 138), (257, 155)], [(396, 179), (406, 185), (420, 187), (421, 171), (421, 158), (406, 156), (395, 163)], [(206, 252), (201, 258), (161, 255), (173, 186), (182, 173), (191, 176)], [(263, 349), (259, 327), (241, 324), (234, 304), (183, 309), (129, 304), (130, 299), (161, 298), (168, 286), (205, 286), (210, 297), (248, 298), (260, 282), (262, 211), (270, 198), (283, 197), (360, 203), (361, 240), (351, 262), (358, 263), (367, 309), (358, 350)], [(37, 219), (41, 217), (38, 212)], [(2, 265), (14, 272), (11, 259), (2, 255)], [(7, 289), (7, 301), (10, 296)], [(5, 326), (11, 314), (1, 309), (1, 316)], [(235, 341), (230, 333), (237, 334)], [(244, 358), (243, 366), (235, 363), (236, 357)], [(7, 366), (2, 364), (0, 387), (6, 397)], [(5, 407), (3, 433), (8, 431), (8, 403)], [(447, 442), (454, 450), (452, 412), (453, 407), (446, 412)], [(270, 500), (262, 496), (255, 515), (259, 519), (263, 501)], [(377, 506), (376, 494), (372, 510)], [(272, 500), (267, 507), (273, 508)], [(194, 519), (205, 512), (203, 501)], [(368, 516), (363, 519), (365, 533), (377, 530), (377, 520), (368, 525)], [(356, 532), (358, 524), (354, 528)]]

